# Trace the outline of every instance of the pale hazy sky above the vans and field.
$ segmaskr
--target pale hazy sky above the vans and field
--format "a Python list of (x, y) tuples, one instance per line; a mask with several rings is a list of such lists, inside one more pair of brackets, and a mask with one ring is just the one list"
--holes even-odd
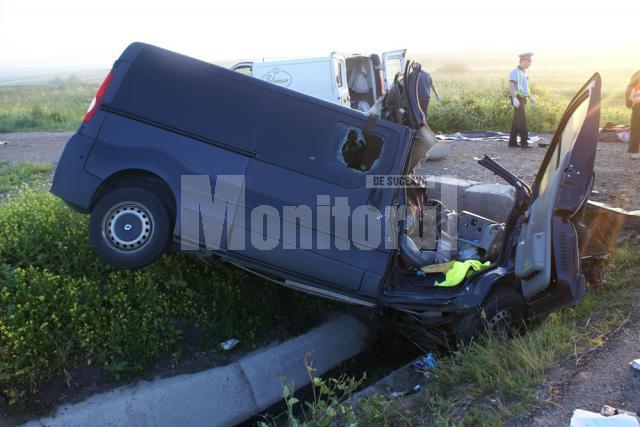
[[(133, 41), (212, 61), (408, 48), (425, 55), (630, 52), (640, 2), (0, 0), (0, 74), (109, 68)], [(634, 22), (635, 21), (635, 22)], [(636, 29), (633, 30), (633, 27)]]

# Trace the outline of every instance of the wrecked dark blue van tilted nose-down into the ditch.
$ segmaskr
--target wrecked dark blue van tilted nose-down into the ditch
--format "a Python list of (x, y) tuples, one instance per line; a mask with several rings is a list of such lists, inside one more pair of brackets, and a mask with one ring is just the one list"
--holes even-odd
[[(375, 307), (433, 340), (579, 301), (576, 227), (594, 179), (600, 77), (569, 104), (531, 186), (479, 161), (514, 188), (495, 221), (447, 206), (416, 172), (432, 135), (419, 72), (408, 64), (365, 114), (134, 43), (67, 143), (51, 192), (91, 215), (95, 252), (117, 267), (192, 252)], [(442, 286), (460, 264), (477, 268)]]

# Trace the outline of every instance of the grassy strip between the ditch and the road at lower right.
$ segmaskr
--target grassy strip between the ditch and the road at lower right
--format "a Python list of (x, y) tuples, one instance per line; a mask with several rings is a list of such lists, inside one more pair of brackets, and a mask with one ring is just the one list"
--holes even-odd
[(350, 394), (362, 380), (314, 379), (314, 385), (325, 385), (324, 403), (317, 397), (305, 402), (300, 415), (291, 410), (292, 403), (300, 403), (285, 387), (287, 424), (503, 425), (537, 403), (538, 386), (553, 366), (567, 357), (577, 361), (628, 320), (639, 265), (640, 246), (619, 248), (605, 273), (606, 285), (576, 307), (552, 314), (522, 336), (488, 337), (444, 356), (424, 392), (409, 400), (374, 395), (347, 404), (344, 391)]

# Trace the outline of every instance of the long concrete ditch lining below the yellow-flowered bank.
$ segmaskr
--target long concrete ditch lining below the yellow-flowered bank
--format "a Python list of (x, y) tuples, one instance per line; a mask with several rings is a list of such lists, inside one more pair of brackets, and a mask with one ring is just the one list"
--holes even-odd
[(64, 405), (27, 426), (227, 426), (282, 399), (281, 378), (296, 389), (309, 382), (304, 360), (316, 375), (358, 354), (369, 328), (343, 314), (304, 335), (258, 350), (227, 366), (156, 381), (143, 381)]

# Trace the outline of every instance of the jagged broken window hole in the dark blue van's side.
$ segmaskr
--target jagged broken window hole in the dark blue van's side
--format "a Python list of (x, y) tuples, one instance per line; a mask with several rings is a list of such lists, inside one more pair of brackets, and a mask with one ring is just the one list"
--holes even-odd
[(380, 158), (382, 153), (382, 138), (371, 135), (364, 137), (361, 129), (351, 126), (341, 126), (341, 144), (338, 158), (348, 168), (367, 172)]

